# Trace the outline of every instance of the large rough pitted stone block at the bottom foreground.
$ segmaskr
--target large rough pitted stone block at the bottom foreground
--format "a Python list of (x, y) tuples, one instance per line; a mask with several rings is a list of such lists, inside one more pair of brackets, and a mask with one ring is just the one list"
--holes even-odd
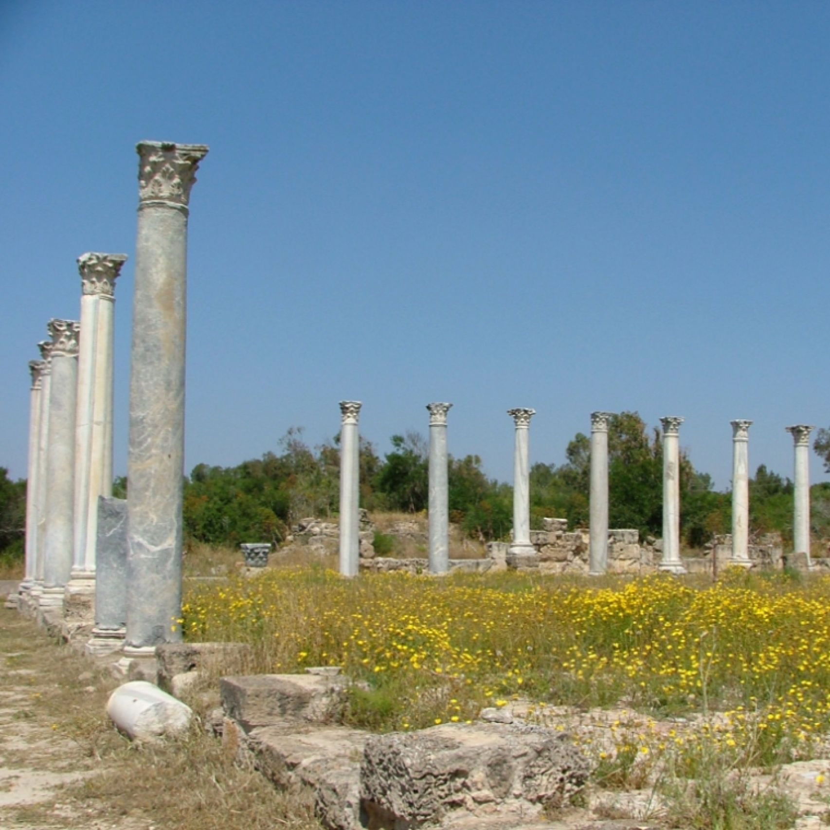
[(583, 787), (570, 736), (522, 724), (440, 725), (374, 735), (360, 766), (369, 827), (420, 828), (458, 812), (536, 818)]

